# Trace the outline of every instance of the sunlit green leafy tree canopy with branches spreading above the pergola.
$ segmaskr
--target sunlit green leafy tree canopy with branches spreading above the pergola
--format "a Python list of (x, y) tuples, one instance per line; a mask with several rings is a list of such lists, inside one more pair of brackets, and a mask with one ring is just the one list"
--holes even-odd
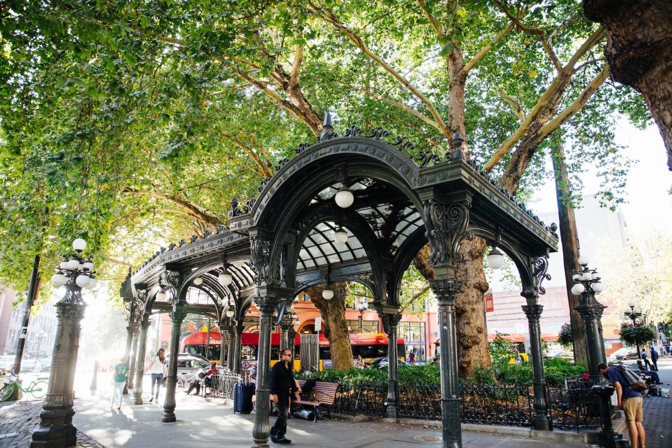
[(460, 132), (511, 192), (562, 139), (618, 195), (613, 123), (649, 121), (579, 1), (10, 0), (0, 20), (0, 278), (20, 290), (77, 236), (120, 278), (226, 223), (327, 110), (411, 156)]

